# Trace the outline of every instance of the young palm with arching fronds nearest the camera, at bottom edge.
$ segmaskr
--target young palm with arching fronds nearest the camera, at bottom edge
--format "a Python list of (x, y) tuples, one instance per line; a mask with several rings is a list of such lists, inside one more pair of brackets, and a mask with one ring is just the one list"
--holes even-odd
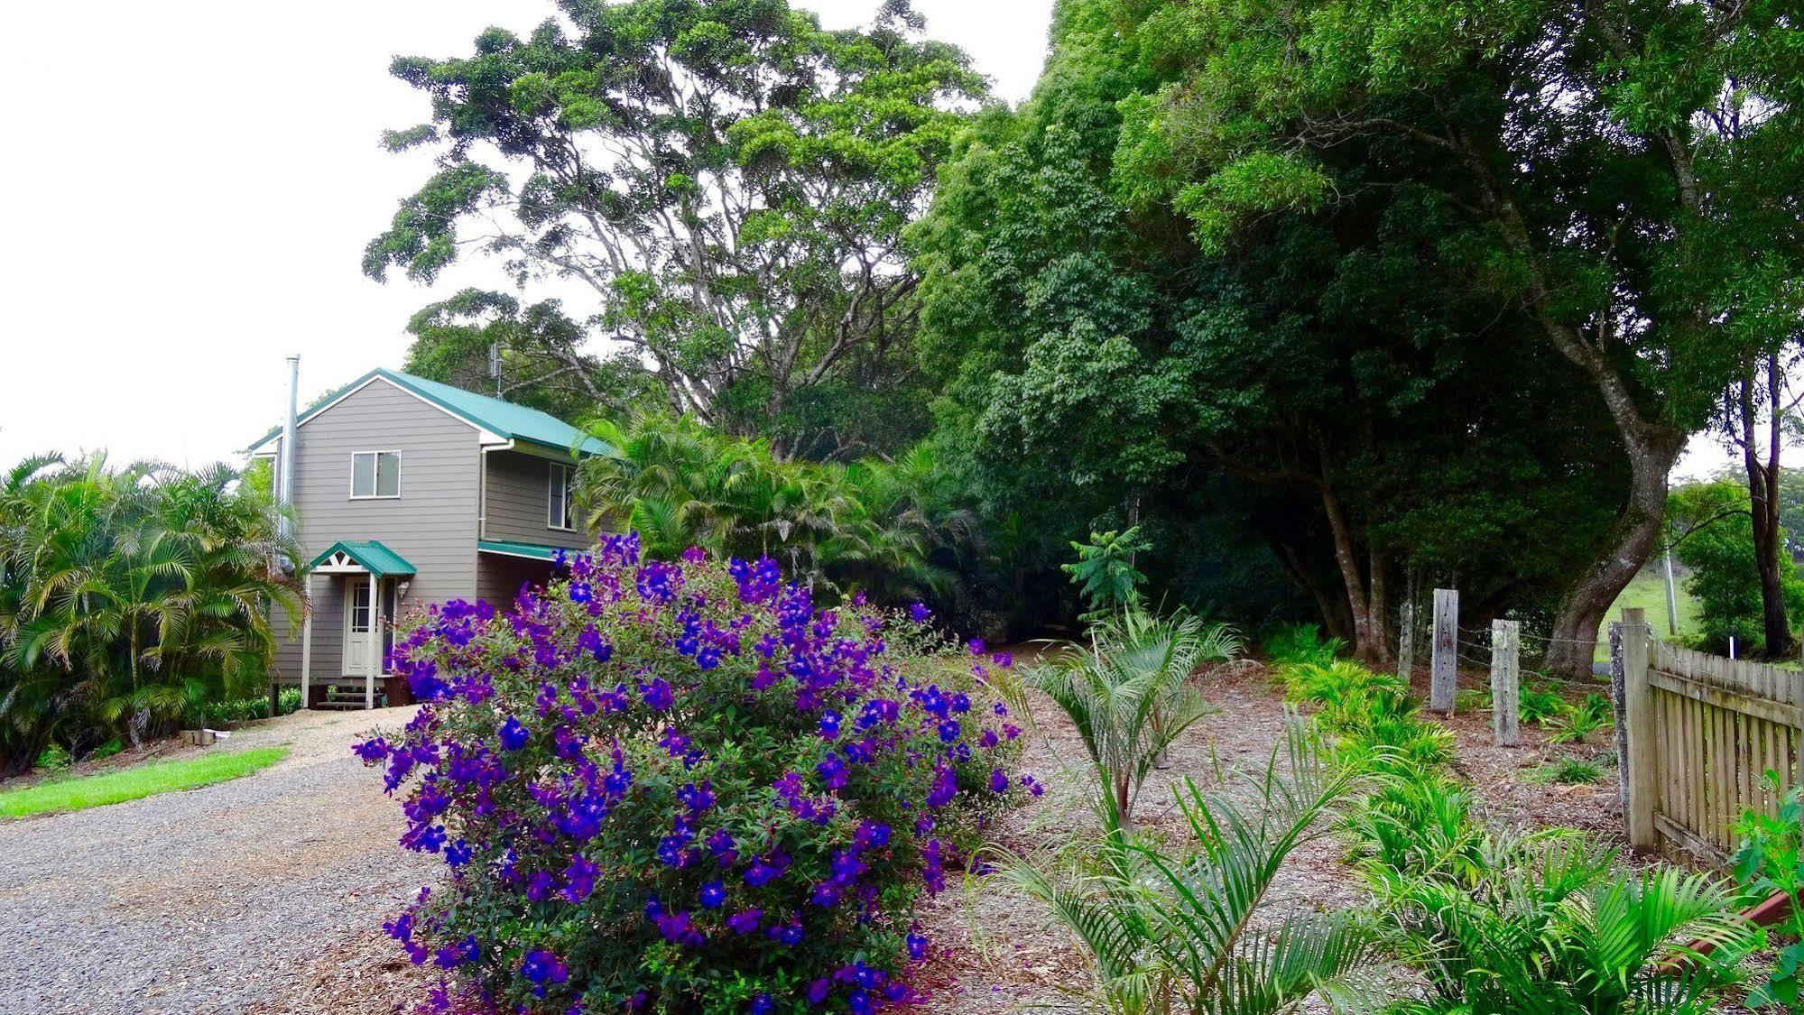
[(1293, 718), (1265, 773), (1178, 806), (1194, 847), (1169, 855), (1099, 793), (1102, 837), (1045, 862), (1003, 855), (1003, 883), (1045, 905), (1095, 959), (1091, 1001), (1117, 1015), (1275, 1015), (1310, 997), (1364, 1006), (1375, 928), (1351, 914), (1265, 912), (1295, 849), (1324, 835), (1362, 777), (1333, 766)]

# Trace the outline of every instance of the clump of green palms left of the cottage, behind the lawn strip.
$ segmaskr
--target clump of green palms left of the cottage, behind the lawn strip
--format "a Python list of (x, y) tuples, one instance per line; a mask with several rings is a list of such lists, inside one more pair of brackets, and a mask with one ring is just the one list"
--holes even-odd
[(269, 687), (303, 613), (267, 492), (226, 467), (29, 460), (0, 478), (0, 770), (81, 754)]

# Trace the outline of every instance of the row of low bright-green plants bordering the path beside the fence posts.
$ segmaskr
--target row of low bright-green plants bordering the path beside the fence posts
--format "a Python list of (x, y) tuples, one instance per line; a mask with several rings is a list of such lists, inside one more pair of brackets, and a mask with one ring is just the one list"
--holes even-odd
[[(1321, 705), (1317, 730), (1339, 763), (1380, 777), (1344, 833), (1391, 954), (1429, 986), (1398, 1013), (1701, 1015), (1739, 983), (1759, 932), (1730, 887), (1658, 865), (1627, 871), (1575, 829), (1490, 829), (1452, 775), (1452, 732), (1418, 719), (1393, 678), (1349, 663), (1284, 676), (1293, 696)], [(1692, 948), (1699, 941), (1708, 956)]]

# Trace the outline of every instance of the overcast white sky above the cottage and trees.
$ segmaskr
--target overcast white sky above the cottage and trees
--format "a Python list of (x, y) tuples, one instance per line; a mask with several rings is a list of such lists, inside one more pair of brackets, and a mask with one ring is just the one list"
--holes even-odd
[[(828, 27), (879, 0), (799, 0)], [(1052, 0), (916, 0), (1021, 101)], [(177, 465), (235, 460), (278, 422), (283, 357), (303, 402), (400, 366), (408, 315), (456, 288), (359, 272), (363, 245), (429, 173), (381, 150), (428, 119), (395, 54), (455, 56), (487, 25), (527, 32), (550, 0), (14, 0), (0, 11), (7, 195), (0, 243), (0, 465), (108, 449)], [(1683, 471), (1723, 456), (1694, 442)]]

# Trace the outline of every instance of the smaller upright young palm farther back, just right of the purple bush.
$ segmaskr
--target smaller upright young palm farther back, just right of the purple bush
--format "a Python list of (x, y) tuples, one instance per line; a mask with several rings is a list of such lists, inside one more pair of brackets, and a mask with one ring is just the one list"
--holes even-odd
[(1070, 716), (1124, 826), (1140, 786), (1183, 730), (1212, 709), (1187, 685), (1205, 662), (1239, 654), (1230, 627), (1191, 613), (1126, 611), (1091, 627), (1088, 649), (1066, 649), (1026, 681)]

